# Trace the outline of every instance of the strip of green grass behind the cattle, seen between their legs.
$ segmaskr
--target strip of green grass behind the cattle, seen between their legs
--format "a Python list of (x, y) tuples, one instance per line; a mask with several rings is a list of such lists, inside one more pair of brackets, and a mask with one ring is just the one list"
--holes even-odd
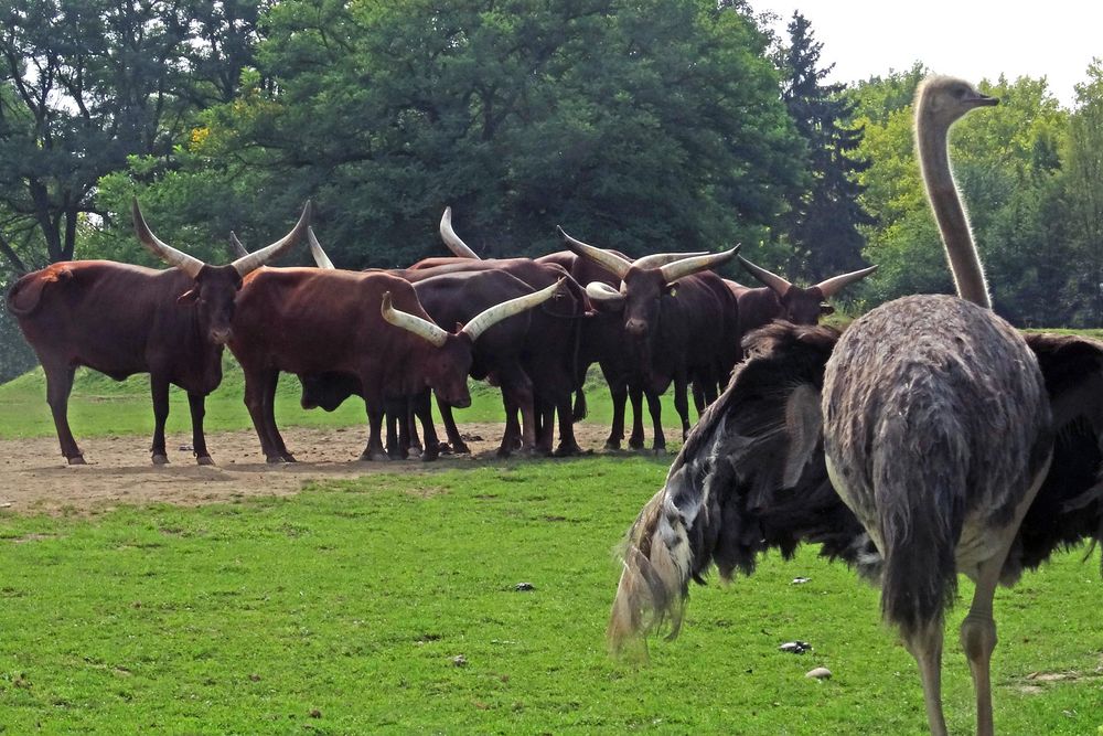
[[(253, 423), (243, 402), (245, 377), (237, 363), (228, 355), (223, 361), (222, 384), (206, 399), (204, 428), (207, 433), (251, 429)], [(612, 418), (609, 391), (595, 366), (587, 381), (587, 419), (608, 425)], [(299, 406), (300, 386), (292, 375), (282, 375), (276, 395), (276, 420), (281, 427), (349, 427), (366, 424), (364, 402), (351, 397), (335, 412), (303, 410)], [(502, 422), (501, 393), (485, 384), (471, 383), (471, 407), (457, 410), (457, 422)], [(191, 431), (188, 395), (173, 386), (170, 391), (169, 434)], [(646, 412), (646, 405), (644, 405)], [(436, 408), (433, 409), (436, 412)], [(646, 416), (646, 415), (645, 415)], [(629, 413), (631, 417), (631, 412)], [(663, 424), (678, 425), (671, 393), (663, 397)], [(690, 408), (690, 422), (697, 415)], [(119, 434), (152, 435), (153, 404), (149, 393), (149, 375), (135, 375), (126, 381), (113, 381), (101, 373), (78, 369), (73, 393), (69, 396), (69, 426), (81, 441), (82, 437), (104, 437)], [(651, 418), (644, 422), (651, 438)], [(35, 369), (0, 385), (0, 439), (49, 437), (54, 435), (54, 423), (46, 405), (46, 380), (42, 369)], [(670, 437), (668, 439), (679, 439)]]

